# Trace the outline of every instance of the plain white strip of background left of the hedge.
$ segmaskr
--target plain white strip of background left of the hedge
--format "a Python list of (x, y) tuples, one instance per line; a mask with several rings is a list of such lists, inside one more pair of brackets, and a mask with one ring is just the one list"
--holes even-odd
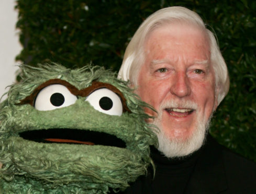
[(15, 28), (18, 10), (14, 7), (15, 0), (0, 0), (0, 96), (9, 90), (5, 89), (7, 86), (15, 82), (17, 65), (20, 64), (15, 61), (22, 47), (19, 30)]

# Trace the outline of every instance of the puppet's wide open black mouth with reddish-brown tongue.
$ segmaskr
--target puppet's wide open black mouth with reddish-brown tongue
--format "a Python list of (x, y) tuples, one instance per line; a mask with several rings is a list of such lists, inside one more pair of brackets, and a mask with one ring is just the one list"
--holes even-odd
[(41, 129), (20, 132), (23, 139), (42, 143), (71, 143), (126, 148), (126, 143), (105, 132), (80, 129)]

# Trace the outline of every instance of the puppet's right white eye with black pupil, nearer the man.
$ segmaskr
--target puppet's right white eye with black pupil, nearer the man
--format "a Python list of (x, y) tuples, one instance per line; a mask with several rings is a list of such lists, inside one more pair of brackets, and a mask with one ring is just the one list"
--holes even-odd
[(88, 95), (86, 101), (95, 108), (95, 110), (108, 114), (121, 116), (123, 105), (119, 96), (106, 88), (98, 89)]

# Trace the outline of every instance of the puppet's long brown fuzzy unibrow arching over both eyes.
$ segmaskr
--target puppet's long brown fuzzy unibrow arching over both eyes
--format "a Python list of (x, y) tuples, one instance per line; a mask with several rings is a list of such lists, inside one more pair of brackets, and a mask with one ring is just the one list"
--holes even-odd
[(92, 92), (94, 92), (95, 90), (101, 89), (101, 88), (107, 88), (109, 90), (112, 90), (113, 92), (115, 92), (121, 99), (122, 103), (123, 103), (123, 112), (129, 112), (131, 113), (131, 111), (129, 110), (129, 108), (126, 105), (126, 99), (125, 96), (123, 95), (123, 93), (120, 92), (120, 90), (118, 90), (115, 86), (113, 86), (112, 84), (109, 83), (103, 83), (103, 82), (99, 82), (99, 81), (93, 81), (92, 82), (92, 86), (79, 90), (76, 87), (74, 87), (72, 84), (70, 84), (68, 81), (62, 80), (62, 79), (50, 79), (44, 83), (42, 83), (40, 86), (38, 86), (29, 96), (27, 96), (25, 99), (21, 100), (20, 103), (18, 103), (19, 105), (21, 104), (30, 104), (31, 106), (34, 106), (34, 101), (36, 99), (37, 94), (43, 89), (46, 88), (47, 86), (50, 86), (52, 84), (61, 84), (63, 86), (65, 86), (66, 88), (68, 88), (68, 90), (76, 95), (76, 96), (82, 96), (82, 97), (86, 97), (89, 94), (91, 94)]

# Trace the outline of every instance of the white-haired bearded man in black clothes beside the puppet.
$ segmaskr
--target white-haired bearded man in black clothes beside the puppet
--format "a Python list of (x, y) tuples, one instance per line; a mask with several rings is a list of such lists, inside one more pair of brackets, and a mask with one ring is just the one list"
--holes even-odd
[(184, 7), (148, 17), (131, 39), (119, 71), (157, 113), (159, 147), (149, 169), (126, 193), (256, 193), (256, 165), (207, 134), (229, 89), (214, 34)]

